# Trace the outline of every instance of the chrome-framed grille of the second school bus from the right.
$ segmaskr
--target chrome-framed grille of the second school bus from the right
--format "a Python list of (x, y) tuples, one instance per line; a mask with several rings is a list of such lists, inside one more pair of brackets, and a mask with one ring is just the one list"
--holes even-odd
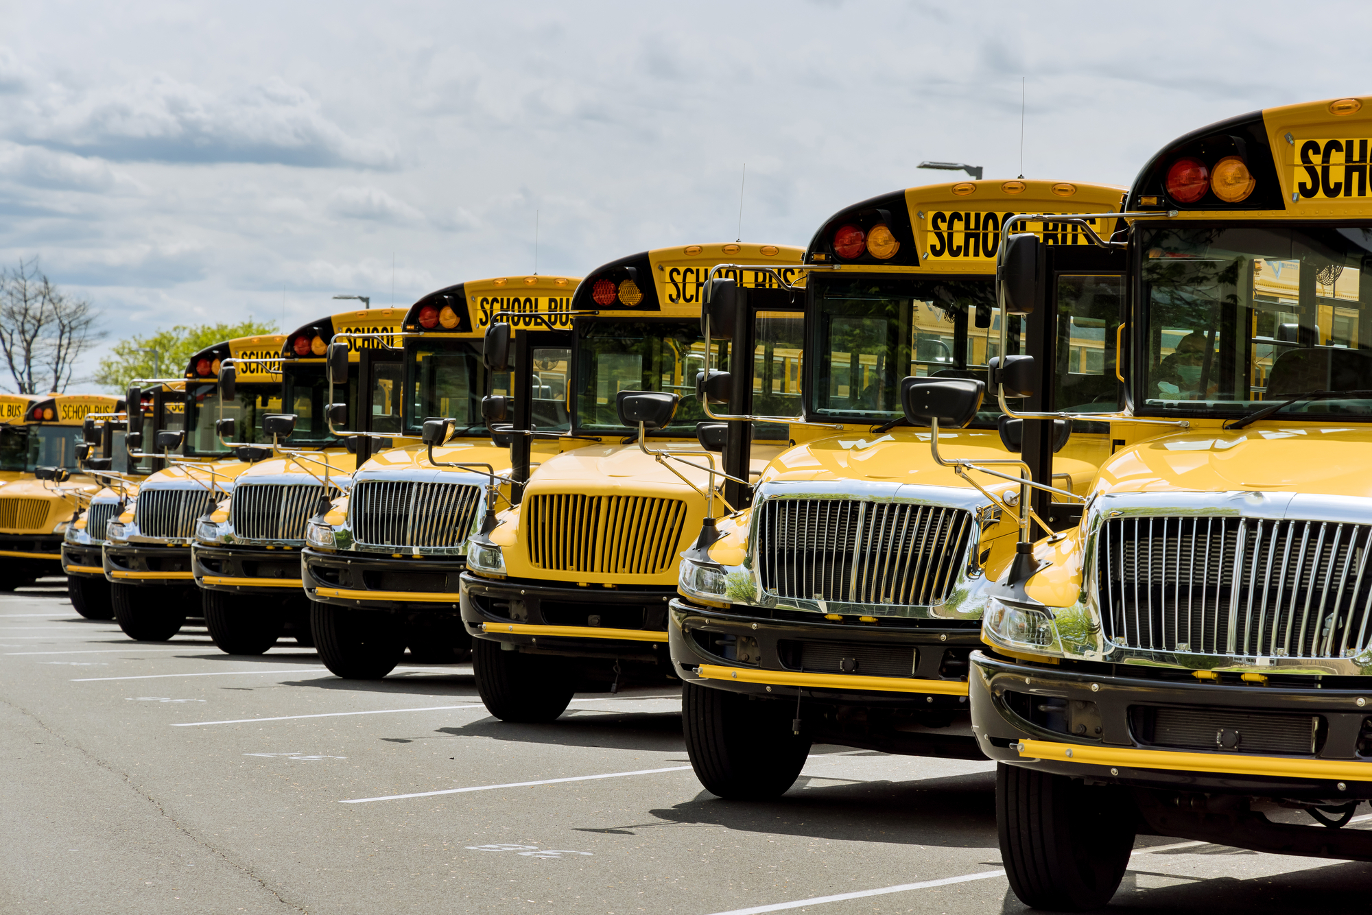
[(841, 604), (941, 604), (971, 532), (965, 509), (859, 499), (768, 499), (757, 521), (763, 587)]

